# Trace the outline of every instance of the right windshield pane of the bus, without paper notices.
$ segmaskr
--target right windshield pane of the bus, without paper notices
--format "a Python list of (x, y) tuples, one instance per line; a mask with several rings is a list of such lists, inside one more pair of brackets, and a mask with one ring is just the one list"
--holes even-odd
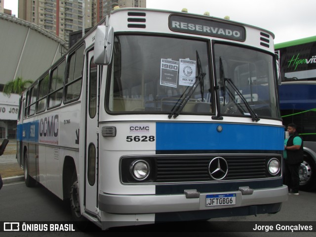
[(214, 58), (221, 115), (280, 118), (272, 55), (215, 43)]

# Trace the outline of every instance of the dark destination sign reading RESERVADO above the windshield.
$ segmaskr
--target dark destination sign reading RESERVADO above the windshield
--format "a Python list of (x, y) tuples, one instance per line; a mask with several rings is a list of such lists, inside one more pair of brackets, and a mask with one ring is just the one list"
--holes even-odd
[(171, 15), (169, 18), (169, 28), (175, 32), (219, 37), (229, 40), (244, 41), (246, 39), (245, 28), (242, 26), (208, 19)]

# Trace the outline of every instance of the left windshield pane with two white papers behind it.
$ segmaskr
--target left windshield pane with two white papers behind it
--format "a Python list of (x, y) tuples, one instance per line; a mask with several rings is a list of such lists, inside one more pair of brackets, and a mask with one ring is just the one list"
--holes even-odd
[[(208, 42), (197, 39), (116, 36), (106, 109), (170, 114), (185, 103), (182, 114), (213, 114), (208, 52)], [(205, 75), (195, 85), (199, 70)]]

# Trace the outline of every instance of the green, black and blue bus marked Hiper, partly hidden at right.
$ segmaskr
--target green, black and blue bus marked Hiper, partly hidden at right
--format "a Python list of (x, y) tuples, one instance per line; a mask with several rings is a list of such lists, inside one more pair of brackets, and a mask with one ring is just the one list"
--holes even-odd
[(304, 140), (300, 189), (316, 188), (316, 37), (275, 45), (280, 54), (279, 87), (283, 123), (295, 123)]

